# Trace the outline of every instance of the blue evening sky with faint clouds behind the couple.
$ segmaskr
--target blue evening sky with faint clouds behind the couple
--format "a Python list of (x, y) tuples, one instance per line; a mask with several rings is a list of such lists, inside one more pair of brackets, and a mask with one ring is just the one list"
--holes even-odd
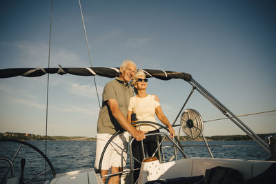
[[(81, 5), (93, 66), (119, 67), (130, 59), (138, 68), (187, 72), (236, 115), (276, 110), (276, 1)], [(0, 68), (47, 68), (50, 0), (2, 0), (0, 8)], [(90, 67), (77, 0), (53, 0), (51, 43), (50, 68)], [(112, 79), (95, 79), (101, 95)], [(171, 123), (190, 90), (179, 79), (148, 82)], [(47, 75), (0, 79), (0, 132), (45, 134), (46, 92)], [(187, 108), (204, 121), (224, 117), (198, 92)], [(48, 135), (95, 136), (98, 113), (92, 77), (50, 74)], [(275, 112), (241, 119), (256, 133), (276, 132)], [(204, 134), (244, 132), (231, 121), (211, 121)]]

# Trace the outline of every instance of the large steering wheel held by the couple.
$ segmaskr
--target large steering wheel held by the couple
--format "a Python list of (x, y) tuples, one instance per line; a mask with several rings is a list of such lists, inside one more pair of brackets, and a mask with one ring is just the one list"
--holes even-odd
[[(168, 136), (169, 137), (169, 130), (168, 130), (168, 128), (167, 127), (165, 127), (164, 125), (160, 125), (159, 123), (155, 123), (155, 122), (152, 122), (152, 121), (137, 121), (137, 122), (135, 122), (135, 123), (132, 123), (132, 125), (140, 125), (140, 124), (143, 124), (143, 123), (147, 123), (147, 124), (151, 124), (151, 125), (158, 125), (159, 126), (159, 130), (166, 130), (166, 136)], [(108, 140), (108, 142), (106, 143), (106, 146), (103, 148), (103, 152), (101, 153), (101, 159), (100, 159), (100, 161), (99, 161), (99, 173), (101, 174), (101, 165), (102, 165), (102, 162), (103, 162), (103, 156), (104, 156), (104, 154), (105, 154), (105, 152), (106, 152), (106, 149), (107, 149), (107, 147), (108, 147), (108, 145), (110, 145), (111, 143), (112, 143), (112, 141), (119, 135), (119, 134), (121, 134), (122, 132), (124, 132), (124, 131), (122, 131), (122, 130), (118, 130), (115, 134), (113, 134), (111, 137), (110, 137), (110, 139)], [(147, 136), (147, 134), (146, 134), (146, 136)], [(132, 139), (134, 139), (134, 138), (132, 138)], [(175, 145), (177, 145), (177, 147), (179, 147), (179, 149), (181, 149), (181, 152), (182, 152), (182, 154), (183, 154), (183, 156), (184, 156), (184, 158), (187, 158), (187, 156), (186, 156), (186, 154), (184, 154), (184, 150), (183, 150), (183, 147), (181, 146), (181, 143), (180, 143), (180, 141), (177, 139), (177, 137), (175, 136), (174, 137), (174, 144)], [(112, 143), (112, 145), (113, 146), (117, 146), (117, 147), (119, 147), (119, 145), (117, 145), (116, 143)], [(131, 145), (129, 145), (129, 146), (131, 146)], [(130, 154), (130, 152), (128, 151), (128, 150), (124, 150), (124, 148), (122, 148), (122, 147), (119, 147), (119, 149), (121, 149), (121, 150), (123, 150), (124, 152), (126, 152), (127, 154), (128, 154), (128, 157), (130, 156), (130, 155), (132, 155), (132, 154)], [(130, 149), (129, 149), (130, 150)], [(176, 148), (176, 150), (178, 150), (178, 148)], [(163, 152), (163, 151), (162, 151)], [(172, 157), (173, 158), (170, 158), (169, 160), (171, 160), (171, 159), (174, 159), (174, 156), (175, 155), (173, 155)], [(132, 159), (136, 159), (136, 158), (134, 158), (134, 156), (132, 156)], [(128, 158), (128, 159), (126, 159), (128, 162), (130, 161), (130, 158)], [(128, 164), (128, 163), (127, 163)], [(130, 164), (129, 164), (130, 165)], [(140, 168), (137, 168), (137, 170), (139, 170)], [(125, 174), (130, 174), (130, 176), (133, 176), (133, 170), (131, 169), (130, 170), (130, 166), (126, 166), (126, 167), (124, 167), (124, 171), (122, 171), (122, 172), (118, 172), (118, 173), (113, 173), (113, 174), (107, 174), (107, 175), (105, 175), (106, 177), (111, 177), (111, 176), (117, 176), (117, 175), (125, 175)], [(105, 176), (101, 176), (101, 177), (105, 177)], [(132, 181), (132, 183), (136, 183), (136, 181)]]

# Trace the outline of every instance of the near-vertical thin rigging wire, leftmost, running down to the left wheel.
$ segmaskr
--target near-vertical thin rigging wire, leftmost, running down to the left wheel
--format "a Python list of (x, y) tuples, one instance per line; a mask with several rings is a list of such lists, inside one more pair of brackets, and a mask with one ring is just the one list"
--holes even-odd
[[(50, 12), (50, 37), (49, 37), (49, 50), (48, 50), (48, 68), (50, 68), (50, 50), (51, 50), (51, 37), (52, 37), (52, 0)], [(49, 73), (47, 75), (47, 99), (46, 99), (46, 130), (45, 130), (45, 155), (47, 156), (47, 136), (48, 136), (48, 101), (49, 101)], [(44, 161), (44, 170), (46, 170), (46, 161)], [(46, 175), (45, 175), (46, 178)]]

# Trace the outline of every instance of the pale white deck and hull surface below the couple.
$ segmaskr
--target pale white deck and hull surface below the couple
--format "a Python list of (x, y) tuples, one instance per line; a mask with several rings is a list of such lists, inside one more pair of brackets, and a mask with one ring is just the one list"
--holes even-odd
[[(146, 183), (157, 179), (168, 179), (178, 177), (190, 177), (205, 175), (206, 170), (217, 167), (230, 167), (241, 172), (244, 180), (252, 178), (264, 172), (275, 161), (247, 161), (240, 159), (211, 159), (211, 158), (189, 158), (179, 159), (166, 163), (159, 161), (143, 162), (138, 183)], [(131, 181), (130, 174), (121, 177), (121, 184)], [(57, 174), (50, 184), (63, 183), (103, 183), (101, 176), (95, 173), (93, 168), (79, 170), (65, 174)]]

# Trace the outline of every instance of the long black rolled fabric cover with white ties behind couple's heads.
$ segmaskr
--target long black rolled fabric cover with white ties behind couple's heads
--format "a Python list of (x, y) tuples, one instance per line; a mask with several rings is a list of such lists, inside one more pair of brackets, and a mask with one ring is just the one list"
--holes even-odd
[[(143, 69), (146, 77), (155, 77), (161, 80), (170, 79), (183, 79), (185, 81), (191, 81), (192, 76), (184, 72), (172, 72), (163, 70), (150, 70)], [(14, 76), (43, 76), (44, 74), (73, 74), (78, 76), (104, 76), (113, 78), (119, 76), (119, 68), (103, 68), (103, 67), (91, 67), (91, 68), (8, 68), (0, 69), (0, 78), (10, 78)]]

